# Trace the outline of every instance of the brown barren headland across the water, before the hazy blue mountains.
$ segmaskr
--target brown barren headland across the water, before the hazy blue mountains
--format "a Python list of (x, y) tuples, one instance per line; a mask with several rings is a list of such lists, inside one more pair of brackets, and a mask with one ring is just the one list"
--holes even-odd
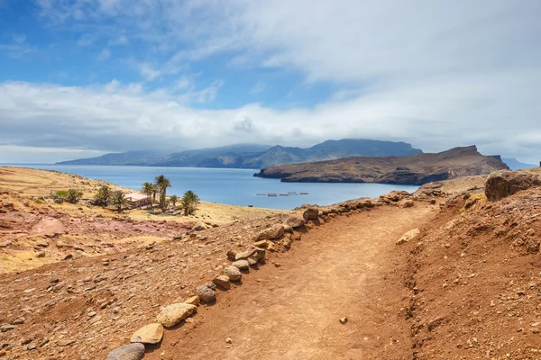
[(475, 146), (408, 157), (347, 157), (272, 166), (254, 176), (295, 183), (426, 184), (459, 176), (509, 169), (500, 157), (481, 155)]

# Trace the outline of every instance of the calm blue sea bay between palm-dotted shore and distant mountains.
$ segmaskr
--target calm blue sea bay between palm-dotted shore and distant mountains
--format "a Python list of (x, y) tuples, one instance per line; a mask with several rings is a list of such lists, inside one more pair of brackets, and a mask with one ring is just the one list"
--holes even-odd
[[(276, 179), (253, 177), (259, 170), (220, 169), (202, 167), (151, 166), (82, 166), (82, 165), (14, 165), (37, 169), (57, 170), (105, 180), (133, 189), (142, 183), (153, 182), (157, 175), (166, 175), (172, 187), (168, 195), (182, 196), (187, 190), (197, 193), (206, 202), (232, 205), (253, 205), (270, 209), (292, 209), (302, 203), (326, 205), (360, 197), (378, 197), (391, 190), (413, 192), (417, 186), (391, 184), (323, 184), (281, 183)], [(258, 193), (308, 193), (307, 195), (261, 196)]]

